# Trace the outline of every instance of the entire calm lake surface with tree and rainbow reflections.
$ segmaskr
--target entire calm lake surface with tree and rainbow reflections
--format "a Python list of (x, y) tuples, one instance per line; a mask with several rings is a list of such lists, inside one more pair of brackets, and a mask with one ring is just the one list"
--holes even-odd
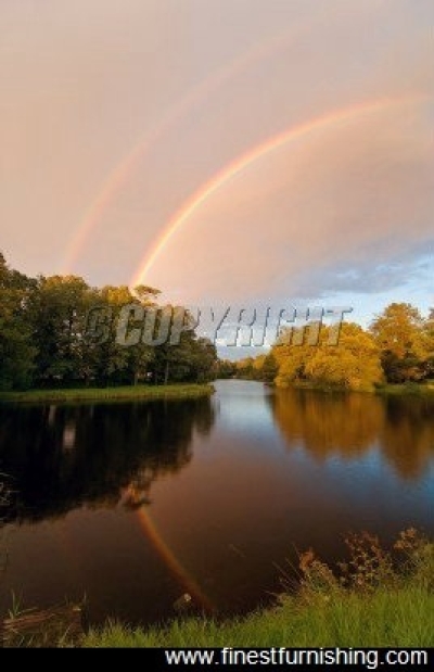
[(434, 534), (434, 406), (219, 381), (210, 400), (0, 407), (0, 471), (18, 491), (1, 532), (0, 610), (87, 596), (94, 622), (242, 612), (278, 567), (343, 534)]

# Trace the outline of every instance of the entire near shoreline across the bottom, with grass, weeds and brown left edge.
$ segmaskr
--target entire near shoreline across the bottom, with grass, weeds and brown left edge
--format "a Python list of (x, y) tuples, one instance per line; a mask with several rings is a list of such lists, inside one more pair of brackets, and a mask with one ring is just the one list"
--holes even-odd
[[(18, 609), (3, 623), (0, 619), (0, 644), (3, 637), (7, 648), (434, 646), (434, 542), (414, 528), (401, 531), (390, 550), (366, 532), (347, 541), (349, 565), (333, 571), (310, 548), (299, 556), (297, 587), (282, 575), (273, 604), (244, 616), (206, 616), (194, 603), (191, 612), (183, 601), (174, 605), (173, 618), (148, 626), (107, 617), (89, 627), (86, 603), (69, 603), (46, 611)], [(55, 610), (63, 621), (53, 624)]]

